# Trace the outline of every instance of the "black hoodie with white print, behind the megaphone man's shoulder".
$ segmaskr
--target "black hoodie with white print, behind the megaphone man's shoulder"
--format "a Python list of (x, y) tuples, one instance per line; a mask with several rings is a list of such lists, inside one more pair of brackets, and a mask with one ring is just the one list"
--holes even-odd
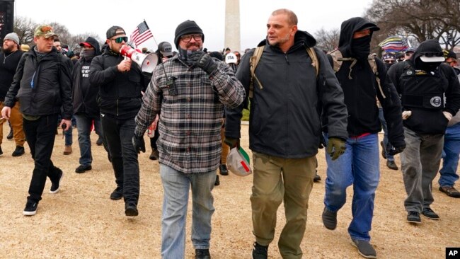
[[(99, 42), (95, 38), (88, 37), (85, 42), (88, 42), (95, 49), (95, 56), (101, 54)], [(99, 106), (96, 102), (99, 89), (91, 87), (89, 81), (89, 67), (91, 59), (81, 57), (74, 65), (72, 73), (73, 82), (73, 97), (74, 97), (74, 113), (86, 113), (91, 116), (99, 116)]]

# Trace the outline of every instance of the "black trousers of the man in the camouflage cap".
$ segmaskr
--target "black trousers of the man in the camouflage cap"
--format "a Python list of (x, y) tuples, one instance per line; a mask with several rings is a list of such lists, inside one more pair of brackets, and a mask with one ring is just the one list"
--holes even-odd
[(46, 177), (52, 182), (59, 180), (59, 168), (51, 161), (54, 138), (56, 137), (57, 114), (41, 116), (38, 120), (23, 120), (25, 139), (35, 161), (30, 180), (28, 200), (42, 200)]

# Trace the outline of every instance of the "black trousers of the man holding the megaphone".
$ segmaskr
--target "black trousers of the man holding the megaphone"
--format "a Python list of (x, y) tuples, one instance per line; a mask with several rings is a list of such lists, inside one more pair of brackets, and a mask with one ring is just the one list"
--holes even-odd
[(109, 115), (101, 116), (104, 138), (107, 141), (115, 171), (115, 183), (123, 188), (125, 203), (137, 205), (139, 200), (139, 162), (132, 146), (136, 122), (134, 117), (119, 120)]

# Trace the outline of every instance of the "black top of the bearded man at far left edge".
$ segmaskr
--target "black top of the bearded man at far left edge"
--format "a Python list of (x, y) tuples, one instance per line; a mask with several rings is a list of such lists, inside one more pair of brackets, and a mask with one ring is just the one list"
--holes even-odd
[(5, 100), (23, 53), (21, 50), (13, 53), (0, 52), (0, 102)]

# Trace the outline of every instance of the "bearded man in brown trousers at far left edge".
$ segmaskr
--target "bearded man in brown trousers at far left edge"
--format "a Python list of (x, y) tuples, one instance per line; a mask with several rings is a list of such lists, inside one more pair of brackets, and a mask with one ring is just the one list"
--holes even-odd
[[(0, 109), (4, 108), (4, 100), (8, 89), (16, 74), (19, 60), (24, 52), (19, 48), (19, 38), (16, 33), (8, 33), (4, 38), (3, 50), (0, 52)], [(11, 109), (10, 115), (11, 128), (14, 132), (14, 142), (16, 149), (12, 156), (22, 156), (24, 154), (25, 135), (23, 131), (23, 115), (19, 111), (19, 103), (16, 103)], [(6, 120), (0, 120), (0, 155), (1, 143), (3, 140), (3, 126)]]

